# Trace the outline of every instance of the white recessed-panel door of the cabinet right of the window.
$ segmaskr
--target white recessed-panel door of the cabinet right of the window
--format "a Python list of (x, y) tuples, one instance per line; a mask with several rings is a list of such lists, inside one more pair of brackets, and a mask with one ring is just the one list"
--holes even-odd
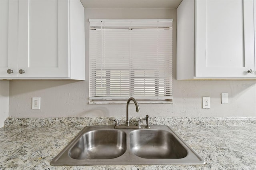
[(196, 1), (196, 77), (255, 77), (253, 0)]

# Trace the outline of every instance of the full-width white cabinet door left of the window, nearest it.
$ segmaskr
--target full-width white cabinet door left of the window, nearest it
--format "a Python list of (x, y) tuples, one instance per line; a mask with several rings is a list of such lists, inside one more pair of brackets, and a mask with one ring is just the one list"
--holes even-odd
[(67, 0), (20, 0), (19, 77), (69, 77)]

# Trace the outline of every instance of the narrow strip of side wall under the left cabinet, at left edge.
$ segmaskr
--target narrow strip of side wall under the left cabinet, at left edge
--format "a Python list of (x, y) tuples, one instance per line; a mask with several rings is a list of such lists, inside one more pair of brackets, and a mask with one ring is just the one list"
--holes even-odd
[(9, 81), (0, 81), (0, 128), (9, 117)]

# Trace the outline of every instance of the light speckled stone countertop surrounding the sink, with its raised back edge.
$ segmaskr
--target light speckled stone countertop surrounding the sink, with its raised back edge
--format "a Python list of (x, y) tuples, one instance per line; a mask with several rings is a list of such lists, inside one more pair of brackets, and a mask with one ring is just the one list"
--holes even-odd
[[(122, 119), (123, 118), (117, 118)], [(7, 119), (0, 128), (0, 169), (256, 169), (256, 118), (152, 118), (169, 125), (206, 165), (51, 166), (52, 159), (86, 125), (112, 125), (108, 118)], [(138, 117), (132, 118), (138, 120)], [(40, 123), (39, 123), (40, 122)], [(86, 125), (81, 125), (86, 122)], [(182, 125), (180, 125), (182, 124)]]

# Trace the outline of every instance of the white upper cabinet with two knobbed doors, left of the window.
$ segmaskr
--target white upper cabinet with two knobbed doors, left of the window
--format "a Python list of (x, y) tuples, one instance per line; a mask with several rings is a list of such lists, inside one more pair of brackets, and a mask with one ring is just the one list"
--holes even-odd
[(8, 18), (1, 20), (1, 41), (2, 32), (8, 36), (1, 42), (1, 79), (84, 80), (84, 7), (80, 0), (4, 3)]

